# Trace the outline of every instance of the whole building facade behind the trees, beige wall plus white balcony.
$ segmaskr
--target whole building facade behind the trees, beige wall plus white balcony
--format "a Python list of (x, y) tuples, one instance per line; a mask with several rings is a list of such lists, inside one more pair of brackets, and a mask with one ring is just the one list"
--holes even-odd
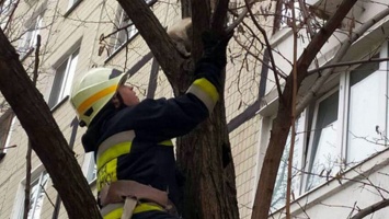
[[(313, 9), (323, 10), (323, 2), (307, 0)], [(325, 2), (324, 11), (334, 12), (341, 1)], [(176, 1), (149, 0), (147, 3), (163, 26), (170, 26), (181, 18)], [(16, 10), (13, 10), (16, 5)], [(231, 8), (241, 5), (243, 2), (231, 3)], [(256, 9), (262, 13), (266, 10), (276, 11), (286, 18), (289, 11), (282, 5), (275, 1), (264, 1)], [(387, 7), (382, 5), (387, 5), (384, 0), (364, 1), (353, 8), (319, 53), (299, 96), (320, 78), (320, 73), (313, 71), (317, 68), (314, 65), (329, 64), (350, 33), (385, 11)], [(89, 69), (106, 66), (129, 72), (129, 82), (141, 99), (171, 97), (173, 92), (163, 72), (116, 1), (5, 0), (0, 18), (1, 28), (19, 51), (28, 73), (34, 68), (36, 36), (42, 36), (36, 87), (75, 151), (92, 191), (95, 191), (93, 155), (84, 153), (80, 143), (85, 129), (78, 126), (69, 103), (72, 84)], [(325, 16), (321, 15), (319, 20), (325, 22)], [(288, 74), (293, 58), (293, 32), (287, 25), (288, 21), (263, 19), (261, 22), (268, 33), (278, 69)], [(254, 26), (250, 21), (248, 24)], [(388, 197), (389, 65), (385, 60), (389, 54), (388, 25), (388, 19), (384, 16), (353, 43), (342, 62), (357, 64), (335, 68), (296, 122), (290, 205), (293, 218), (351, 218), (358, 209)], [(238, 31), (229, 45), (225, 89), (241, 219), (251, 218), (278, 101), (268, 65), (258, 60), (267, 62), (266, 55), (262, 57), (261, 49), (261, 53), (254, 53), (262, 45), (251, 45), (247, 33), (249, 31)], [(299, 54), (309, 41), (307, 32), (300, 31)], [(250, 51), (255, 56), (245, 56), (247, 49), (252, 49)], [(363, 61), (371, 58), (382, 60)], [(31, 188), (28, 218), (68, 218), (48, 174), (34, 153), (31, 160), (32, 182), (26, 185), (27, 136), (7, 103), (2, 103), (0, 110), (0, 218), (23, 217), (26, 186)], [(278, 170), (271, 218), (285, 217), (286, 159), (290, 139)], [(388, 210), (381, 209), (371, 218), (384, 219), (386, 215)]]

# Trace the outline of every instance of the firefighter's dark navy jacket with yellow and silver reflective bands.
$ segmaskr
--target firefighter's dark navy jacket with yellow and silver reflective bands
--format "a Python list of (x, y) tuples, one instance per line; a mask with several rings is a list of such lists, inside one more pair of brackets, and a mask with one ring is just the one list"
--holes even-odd
[(218, 100), (219, 74), (216, 66), (199, 62), (184, 95), (147, 99), (118, 110), (108, 103), (82, 137), (85, 151), (95, 154), (98, 191), (110, 182), (133, 180), (168, 192), (178, 204), (171, 139), (187, 134), (209, 116)]

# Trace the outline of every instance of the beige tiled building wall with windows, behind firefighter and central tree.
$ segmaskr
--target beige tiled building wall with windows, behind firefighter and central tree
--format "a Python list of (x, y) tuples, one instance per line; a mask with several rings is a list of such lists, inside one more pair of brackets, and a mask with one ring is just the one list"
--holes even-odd
[[(178, 1), (147, 0), (163, 26), (181, 18)], [(18, 7), (14, 10), (14, 7)], [(129, 72), (141, 99), (173, 96), (158, 62), (124, 10), (113, 0), (5, 0), (1, 27), (20, 54), (28, 73), (34, 69), (36, 36), (41, 35), (39, 74), (36, 87), (75, 151), (91, 189), (95, 191), (93, 155), (80, 142), (84, 128), (78, 126), (69, 103), (72, 84), (89, 69), (114, 67)], [(261, 123), (260, 79), (263, 68), (241, 68), (239, 45), (231, 43), (234, 64), (227, 66), (226, 111), (236, 164), (241, 218), (249, 218), (258, 180)], [(250, 64), (251, 65), (251, 64)], [(250, 66), (249, 65), (249, 66)], [(265, 79), (262, 79), (263, 83)], [(270, 87), (267, 87), (270, 88)], [(270, 92), (271, 89), (267, 89)], [(262, 94), (261, 94), (262, 93)], [(32, 115), (33, 116), (33, 115)], [(28, 218), (67, 218), (60, 198), (42, 162), (32, 155), (32, 182), (26, 185), (28, 139), (7, 104), (0, 117), (0, 218), (20, 219), (24, 210), (24, 188), (31, 187)]]

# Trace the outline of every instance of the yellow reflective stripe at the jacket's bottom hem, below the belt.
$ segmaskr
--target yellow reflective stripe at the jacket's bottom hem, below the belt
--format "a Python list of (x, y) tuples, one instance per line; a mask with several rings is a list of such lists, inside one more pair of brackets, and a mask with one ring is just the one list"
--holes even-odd
[[(105, 206), (102, 209), (102, 215), (104, 219), (121, 219), (122, 214), (123, 214), (123, 204), (122, 205), (117, 205), (117, 204), (111, 204)], [(112, 208), (112, 207), (116, 207), (116, 208)], [(108, 209), (112, 208), (112, 209)], [(156, 204), (150, 204), (150, 203), (140, 203), (138, 204), (133, 214), (140, 214), (140, 212), (146, 212), (146, 211), (150, 211), (150, 210), (160, 210), (160, 211), (164, 211), (164, 209), (160, 206), (157, 206)]]

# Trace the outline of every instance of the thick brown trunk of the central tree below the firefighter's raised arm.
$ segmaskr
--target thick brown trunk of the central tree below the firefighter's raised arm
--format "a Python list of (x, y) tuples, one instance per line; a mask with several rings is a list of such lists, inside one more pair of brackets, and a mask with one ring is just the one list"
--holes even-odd
[(209, 119), (178, 139), (178, 163), (186, 178), (184, 218), (239, 218), (224, 102)]

